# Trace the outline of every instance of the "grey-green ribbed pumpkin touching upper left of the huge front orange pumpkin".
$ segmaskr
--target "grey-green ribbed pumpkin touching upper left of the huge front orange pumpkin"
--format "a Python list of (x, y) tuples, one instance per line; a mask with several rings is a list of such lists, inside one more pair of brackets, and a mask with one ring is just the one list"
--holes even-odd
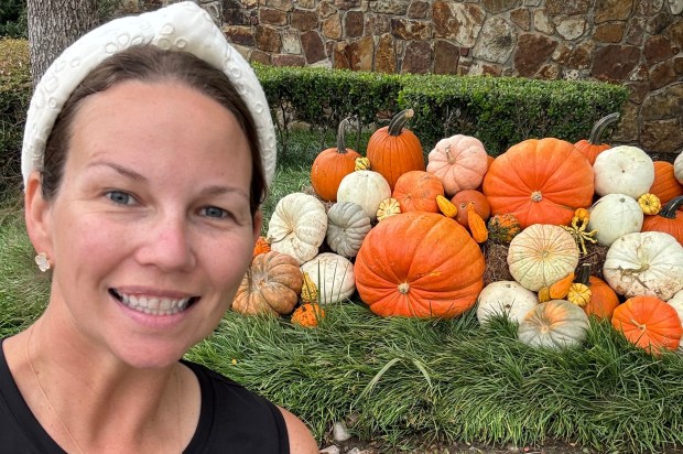
[(356, 257), (372, 225), (370, 217), (355, 202), (337, 202), (327, 210), (327, 245), (344, 257)]

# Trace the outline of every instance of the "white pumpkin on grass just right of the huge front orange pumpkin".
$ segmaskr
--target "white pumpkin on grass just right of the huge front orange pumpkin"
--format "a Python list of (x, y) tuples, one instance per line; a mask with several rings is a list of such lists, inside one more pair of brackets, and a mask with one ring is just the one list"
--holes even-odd
[(492, 316), (505, 315), (512, 322), (521, 322), (535, 305), (539, 298), (516, 281), (496, 281), (486, 285), (477, 298), (477, 320), (485, 324)]

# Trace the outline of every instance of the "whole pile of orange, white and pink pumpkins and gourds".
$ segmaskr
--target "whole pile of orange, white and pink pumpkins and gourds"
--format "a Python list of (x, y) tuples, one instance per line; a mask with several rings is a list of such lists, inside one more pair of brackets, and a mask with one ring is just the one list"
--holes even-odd
[[(480, 323), (506, 315), (532, 346), (581, 344), (595, 316), (651, 353), (679, 348), (683, 154), (653, 162), (600, 143), (615, 114), (587, 140), (530, 139), (496, 158), (456, 134), (425, 163), (405, 128), (412, 115), (375, 131), (366, 156), (346, 148), (342, 121), (337, 147), (312, 165), (315, 194), (279, 201), (236, 311), (296, 307), (292, 322), (311, 326), (357, 291), (380, 316), (454, 317), (476, 305)], [(506, 245), (512, 279), (485, 285), (490, 244)], [(594, 244), (607, 250), (604, 279), (579, 266)]]

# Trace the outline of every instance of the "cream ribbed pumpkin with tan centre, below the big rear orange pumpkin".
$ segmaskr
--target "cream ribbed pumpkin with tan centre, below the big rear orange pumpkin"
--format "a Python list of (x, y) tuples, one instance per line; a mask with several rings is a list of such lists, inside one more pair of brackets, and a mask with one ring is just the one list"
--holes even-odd
[(532, 224), (512, 238), (508, 248), (510, 274), (534, 292), (564, 278), (577, 264), (576, 241), (560, 226)]

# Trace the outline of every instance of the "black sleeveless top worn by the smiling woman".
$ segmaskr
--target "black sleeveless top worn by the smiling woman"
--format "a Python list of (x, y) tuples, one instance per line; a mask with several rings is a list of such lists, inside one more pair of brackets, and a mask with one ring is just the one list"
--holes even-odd
[[(199, 422), (185, 453), (289, 453), (280, 410), (232, 380), (189, 361), (202, 390)], [(0, 453), (63, 454), (17, 388), (0, 343)]]

